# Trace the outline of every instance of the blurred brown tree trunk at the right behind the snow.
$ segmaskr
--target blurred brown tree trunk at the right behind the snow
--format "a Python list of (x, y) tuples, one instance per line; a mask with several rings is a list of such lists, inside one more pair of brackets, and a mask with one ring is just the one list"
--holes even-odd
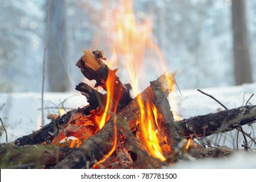
[(236, 85), (252, 83), (245, 3), (244, 0), (232, 0), (233, 53)]

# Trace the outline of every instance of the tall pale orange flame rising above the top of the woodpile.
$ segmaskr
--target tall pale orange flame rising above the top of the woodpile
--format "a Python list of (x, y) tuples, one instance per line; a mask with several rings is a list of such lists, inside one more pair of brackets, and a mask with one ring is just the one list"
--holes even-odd
[[(119, 9), (113, 12), (110, 28), (113, 43), (113, 58), (121, 60), (124, 71), (128, 72), (129, 83), (134, 94), (139, 93), (139, 73), (145, 57), (148, 42), (151, 41), (152, 21), (146, 20), (138, 23), (135, 19), (132, 1), (120, 1)], [(113, 21), (113, 19), (115, 19)], [(113, 24), (112, 24), (113, 23)], [(109, 27), (109, 26), (108, 26)]]

